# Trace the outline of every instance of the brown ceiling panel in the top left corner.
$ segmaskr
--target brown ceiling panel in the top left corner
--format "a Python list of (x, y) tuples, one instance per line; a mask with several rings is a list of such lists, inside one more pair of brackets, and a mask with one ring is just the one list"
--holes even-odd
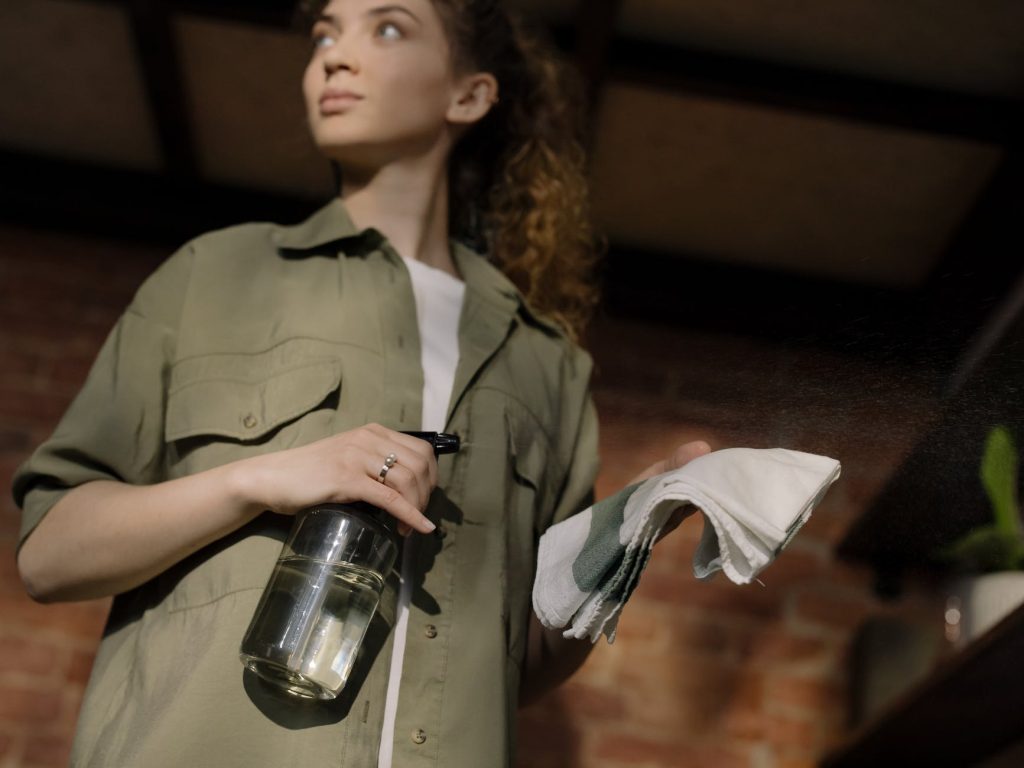
[(131, 28), (117, 6), (3, 0), (0, 72), (0, 144), (160, 167)]

